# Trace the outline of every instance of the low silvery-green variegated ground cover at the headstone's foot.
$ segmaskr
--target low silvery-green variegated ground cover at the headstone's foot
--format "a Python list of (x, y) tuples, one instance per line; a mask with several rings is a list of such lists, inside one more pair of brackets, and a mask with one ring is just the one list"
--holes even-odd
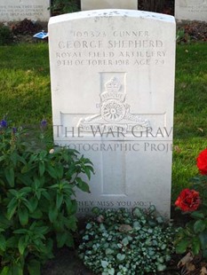
[(174, 251), (175, 230), (154, 216), (155, 208), (145, 214), (134, 208), (100, 210), (85, 227), (79, 256), (84, 264), (102, 275), (146, 274), (164, 271)]

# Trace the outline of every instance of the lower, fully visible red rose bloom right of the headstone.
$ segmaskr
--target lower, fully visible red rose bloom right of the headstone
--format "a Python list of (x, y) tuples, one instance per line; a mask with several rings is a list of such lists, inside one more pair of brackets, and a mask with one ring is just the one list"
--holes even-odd
[(179, 198), (175, 201), (175, 205), (182, 211), (195, 211), (201, 203), (199, 193), (195, 190), (184, 189), (179, 193)]

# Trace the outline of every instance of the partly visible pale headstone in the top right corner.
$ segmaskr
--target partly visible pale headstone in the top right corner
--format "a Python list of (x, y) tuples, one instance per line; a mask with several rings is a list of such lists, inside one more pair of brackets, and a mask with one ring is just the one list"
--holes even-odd
[(175, 18), (207, 21), (207, 0), (175, 0)]

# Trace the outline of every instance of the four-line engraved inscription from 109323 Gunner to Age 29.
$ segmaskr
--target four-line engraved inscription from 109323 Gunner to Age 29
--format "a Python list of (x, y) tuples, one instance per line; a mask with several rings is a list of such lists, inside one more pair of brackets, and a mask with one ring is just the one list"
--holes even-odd
[(57, 43), (58, 67), (163, 66), (164, 42), (147, 30), (71, 31)]

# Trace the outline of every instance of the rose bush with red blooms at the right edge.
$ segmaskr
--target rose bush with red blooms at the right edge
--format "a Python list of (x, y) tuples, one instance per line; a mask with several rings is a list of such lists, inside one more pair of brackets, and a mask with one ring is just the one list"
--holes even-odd
[(207, 258), (207, 149), (198, 155), (197, 167), (201, 175), (192, 179), (193, 189), (184, 189), (175, 202), (190, 221), (179, 229), (176, 237), (176, 252), (190, 250), (193, 255)]

